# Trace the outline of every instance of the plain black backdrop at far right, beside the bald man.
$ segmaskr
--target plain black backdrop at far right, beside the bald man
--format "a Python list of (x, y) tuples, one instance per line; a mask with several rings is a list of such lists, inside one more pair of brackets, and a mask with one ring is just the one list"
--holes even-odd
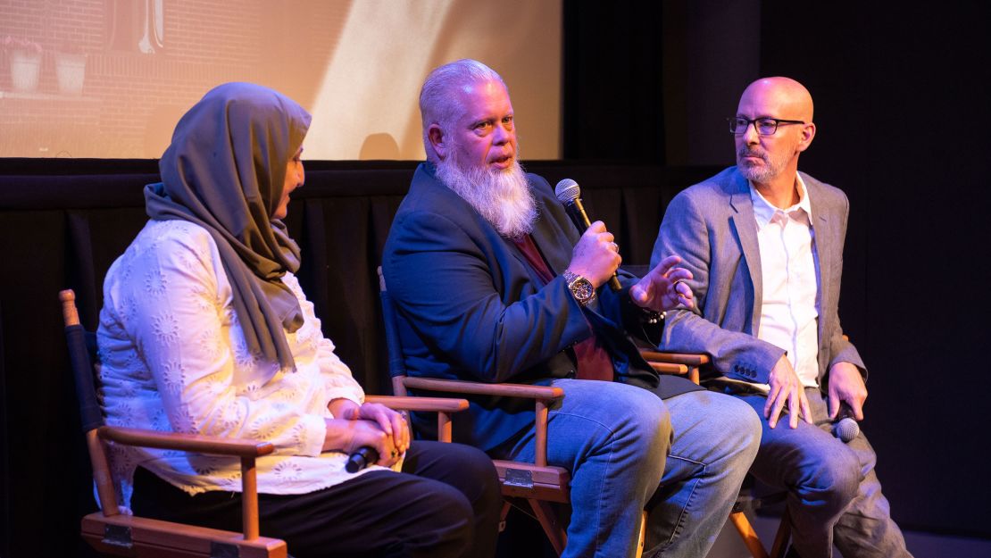
[[(760, 12), (760, 72), (793, 76), (816, 99), (800, 167), (850, 199), (840, 303), (862, 318), (840, 315), (870, 369), (865, 431), (892, 514), (903, 528), (983, 539), (988, 16), (983, 2), (762, 2)], [(936, 113), (953, 116), (918, 117)]]

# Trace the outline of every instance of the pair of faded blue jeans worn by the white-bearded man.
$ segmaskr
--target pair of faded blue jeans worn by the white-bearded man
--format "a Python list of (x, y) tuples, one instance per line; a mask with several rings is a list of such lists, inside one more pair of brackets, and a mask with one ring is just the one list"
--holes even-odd
[[(705, 556), (757, 451), (753, 411), (708, 391), (661, 400), (611, 382), (553, 386), (565, 396), (550, 410), (547, 460), (572, 472), (562, 558), (632, 556), (644, 508), (651, 553)], [(532, 460), (533, 448), (531, 431), (497, 457)]]

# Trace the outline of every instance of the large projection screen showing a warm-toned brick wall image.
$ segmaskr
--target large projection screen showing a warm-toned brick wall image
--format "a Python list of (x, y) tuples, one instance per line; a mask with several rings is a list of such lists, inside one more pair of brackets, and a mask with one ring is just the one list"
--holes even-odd
[(527, 159), (561, 155), (560, 0), (0, 0), (0, 157), (157, 159), (226, 81), (313, 114), (309, 160), (417, 160), (419, 86), (502, 74)]

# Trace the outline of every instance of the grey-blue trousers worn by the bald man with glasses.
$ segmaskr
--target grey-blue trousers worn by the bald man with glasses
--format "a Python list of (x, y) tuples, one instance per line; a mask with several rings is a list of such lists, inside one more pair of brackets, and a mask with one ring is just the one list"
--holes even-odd
[[(763, 416), (767, 398), (740, 394)], [(761, 420), (760, 451), (752, 472), (762, 483), (788, 491), (792, 546), (802, 558), (829, 558), (835, 544), (843, 556), (910, 557), (902, 531), (891, 518), (874, 473), (877, 455), (861, 432), (844, 444), (831, 433), (826, 398), (807, 388), (814, 424), (787, 420), (769, 428)]]

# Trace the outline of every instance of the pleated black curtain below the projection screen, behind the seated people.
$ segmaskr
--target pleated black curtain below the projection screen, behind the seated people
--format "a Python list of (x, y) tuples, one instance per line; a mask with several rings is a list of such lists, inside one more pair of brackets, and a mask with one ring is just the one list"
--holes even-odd
[[(310, 162), (286, 224), (299, 280), (323, 332), (370, 393), (388, 393), (376, 268), (415, 162)], [(671, 197), (716, 168), (532, 162), (551, 184), (583, 187), (590, 216), (647, 264)], [(156, 161), (0, 160), (0, 539), (3, 556), (86, 553), (79, 518), (96, 508), (70, 380), (59, 289), (94, 329), (102, 280), (146, 221)], [(14, 534), (16, 533), (16, 535)], [(56, 536), (53, 536), (55, 534)]]

